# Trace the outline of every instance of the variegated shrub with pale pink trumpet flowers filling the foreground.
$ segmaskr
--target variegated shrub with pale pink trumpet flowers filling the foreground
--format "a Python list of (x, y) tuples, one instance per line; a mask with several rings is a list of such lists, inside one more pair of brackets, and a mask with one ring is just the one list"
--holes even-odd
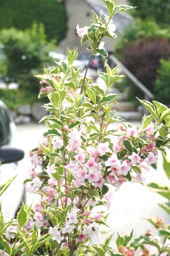
[[(124, 182), (140, 182), (143, 172), (156, 169), (158, 150), (169, 147), (170, 109), (159, 102), (139, 100), (150, 112), (144, 116), (142, 128), (123, 123), (116, 130), (111, 124), (123, 121), (115, 116), (113, 103), (117, 94), (108, 94), (109, 87), (123, 75), (116, 75), (107, 65), (108, 53), (101, 42), (104, 36), (116, 38), (111, 18), (131, 6), (115, 6), (111, 0), (103, 0), (109, 16), (94, 12), (94, 22), (79, 28), (81, 44), (91, 42), (90, 61), (95, 53), (104, 59), (107, 73), (98, 72), (106, 83), (106, 92), (94, 84), (91, 78), (80, 75), (82, 67), (73, 65), (77, 50), (67, 52), (67, 63), (57, 62), (51, 71), (40, 75), (39, 98), (47, 96), (44, 104), (50, 115), (40, 122), (48, 130), (39, 147), (32, 150), (32, 169), (26, 180), (27, 191), (40, 194), (40, 201), (33, 207), (22, 204), (17, 219), (3, 220), (1, 215), (0, 244), (7, 255), (63, 255), (104, 256), (135, 255), (141, 243), (131, 243), (131, 234), (116, 240), (119, 252), (109, 243), (109, 235), (100, 245), (100, 224), (108, 225), (106, 214), (91, 210), (95, 206), (110, 207), (112, 193)], [(152, 122), (151, 120), (154, 120)], [(166, 124), (161, 122), (165, 121)], [(165, 250), (164, 250), (165, 251)]]

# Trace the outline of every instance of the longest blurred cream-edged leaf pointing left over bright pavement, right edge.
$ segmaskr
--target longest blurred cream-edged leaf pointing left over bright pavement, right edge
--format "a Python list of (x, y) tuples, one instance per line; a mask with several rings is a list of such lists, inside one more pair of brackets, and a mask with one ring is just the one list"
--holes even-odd
[(164, 196), (168, 200), (170, 200), (170, 189), (168, 186), (160, 185), (159, 183), (151, 182), (146, 186), (149, 190)]

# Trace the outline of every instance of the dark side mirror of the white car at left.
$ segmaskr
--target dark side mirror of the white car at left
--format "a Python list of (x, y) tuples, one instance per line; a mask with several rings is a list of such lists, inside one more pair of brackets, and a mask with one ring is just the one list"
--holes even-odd
[(0, 162), (1, 164), (9, 164), (22, 160), (24, 151), (22, 149), (13, 148), (11, 146), (0, 147)]

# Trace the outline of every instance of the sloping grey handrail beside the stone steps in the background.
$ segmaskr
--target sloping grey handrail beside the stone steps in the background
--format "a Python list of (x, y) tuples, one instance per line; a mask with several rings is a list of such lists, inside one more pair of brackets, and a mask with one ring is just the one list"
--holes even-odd
[(128, 78), (138, 87), (145, 95), (145, 100), (151, 100), (154, 98), (152, 92), (150, 92), (145, 85), (143, 85), (120, 61), (113, 55), (109, 55), (109, 59), (116, 65), (120, 64), (120, 68), (128, 76)]

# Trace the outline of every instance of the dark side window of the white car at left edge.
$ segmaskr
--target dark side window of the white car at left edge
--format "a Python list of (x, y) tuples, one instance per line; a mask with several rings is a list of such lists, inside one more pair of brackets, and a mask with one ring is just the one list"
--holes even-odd
[(10, 143), (10, 117), (4, 107), (0, 107), (0, 146)]

